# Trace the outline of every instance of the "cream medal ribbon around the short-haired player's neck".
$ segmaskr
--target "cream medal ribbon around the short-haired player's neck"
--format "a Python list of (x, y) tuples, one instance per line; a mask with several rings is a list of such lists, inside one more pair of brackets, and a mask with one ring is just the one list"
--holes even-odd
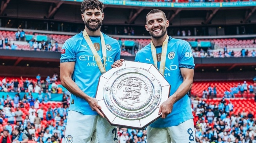
[[(162, 47), (162, 55), (161, 55), (161, 61), (160, 61), (160, 67), (159, 67), (159, 71), (162, 75), (164, 74), (164, 70), (165, 70), (168, 39), (169, 39), (169, 36), (167, 35), (165, 41), (163, 42), (163, 47)], [(154, 46), (152, 39), (150, 41), (150, 45), (151, 45), (151, 52), (154, 60), (154, 65), (156, 68), (158, 68), (157, 60), (156, 60), (156, 47)]]

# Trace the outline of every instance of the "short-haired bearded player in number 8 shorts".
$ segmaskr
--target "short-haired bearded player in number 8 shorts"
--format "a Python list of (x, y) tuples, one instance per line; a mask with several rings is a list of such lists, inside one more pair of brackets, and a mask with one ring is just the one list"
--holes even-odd
[[(156, 66), (171, 85), (169, 98), (160, 105), (155, 122), (147, 127), (147, 143), (195, 143), (193, 115), (188, 91), (192, 87), (194, 59), (187, 41), (167, 35), (165, 13), (153, 9), (146, 16), (145, 28), (151, 43), (136, 53), (135, 61)], [(113, 64), (118, 66), (119, 61)], [(164, 91), (163, 91), (164, 92)]]

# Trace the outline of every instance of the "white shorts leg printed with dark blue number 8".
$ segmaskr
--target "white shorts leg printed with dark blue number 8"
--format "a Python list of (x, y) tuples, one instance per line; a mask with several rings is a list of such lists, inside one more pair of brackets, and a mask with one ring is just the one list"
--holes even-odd
[(167, 129), (172, 143), (196, 143), (193, 118)]

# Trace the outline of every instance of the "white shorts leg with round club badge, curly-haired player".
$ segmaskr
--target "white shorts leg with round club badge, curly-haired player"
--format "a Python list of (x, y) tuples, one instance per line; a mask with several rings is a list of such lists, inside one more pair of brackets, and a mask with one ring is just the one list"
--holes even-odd
[(65, 143), (90, 143), (96, 128), (96, 115), (69, 111), (65, 130)]

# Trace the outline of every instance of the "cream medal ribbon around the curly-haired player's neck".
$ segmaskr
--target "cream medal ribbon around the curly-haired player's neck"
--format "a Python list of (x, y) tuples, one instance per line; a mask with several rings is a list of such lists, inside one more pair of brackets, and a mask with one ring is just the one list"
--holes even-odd
[(85, 41), (87, 42), (87, 44), (89, 45), (91, 51), (93, 52), (93, 55), (94, 55), (94, 58), (95, 58), (95, 61), (100, 69), (100, 72), (101, 73), (104, 73), (106, 72), (106, 68), (105, 68), (105, 63), (106, 63), (106, 59), (107, 59), (107, 52), (106, 52), (106, 44), (105, 44), (105, 40), (103, 38), (103, 34), (102, 32), (100, 32), (100, 41), (101, 41), (101, 47), (102, 47), (102, 55), (103, 55), (103, 61), (104, 61), (104, 65), (102, 64), (102, 61), (100, 59), (100, 56), (99, 54), (97, 53), (94, 45), (93, 45), (93, 42), (91, 41), (89, 35), (87, 34), (86, 30), (84, 29), (83, 31), (83, 36), (84, 36), (84, 39)]

